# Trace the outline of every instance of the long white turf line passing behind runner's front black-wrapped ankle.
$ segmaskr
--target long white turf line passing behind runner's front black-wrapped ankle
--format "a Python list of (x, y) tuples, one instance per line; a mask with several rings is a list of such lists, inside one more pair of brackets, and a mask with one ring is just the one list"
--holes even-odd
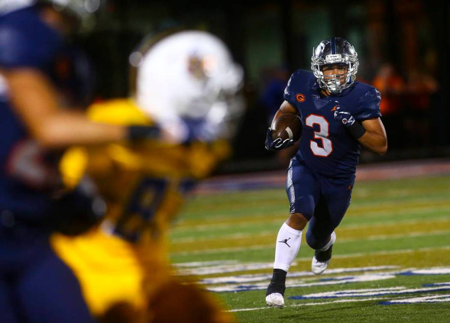
[[(325, 274), (331, 275), (331, 274), (344, 274), (344, 273), (354, 273), (354, 272), (371, 272), (371, 271), (377, 271), (377, 270), (396, 269), (396, 268), (398, 268), (398, 266), (335, 268), (335, 269), (327, 269)], [(317, 277), (317, 275), (314, 275), (311, 271), (288, 272), (287, 273), (287, 278), (311, 277), (311, 276)], [(228, 277), (204, 278), (204, 279), (201, 279), (199, 282), (201, 284), (245, 283), (245, 282), (268, 280), (271, 277), (272, 277), (272, 274), (246, 274), (246, 275), (237, 275), (237, 276), (228, 276)]]

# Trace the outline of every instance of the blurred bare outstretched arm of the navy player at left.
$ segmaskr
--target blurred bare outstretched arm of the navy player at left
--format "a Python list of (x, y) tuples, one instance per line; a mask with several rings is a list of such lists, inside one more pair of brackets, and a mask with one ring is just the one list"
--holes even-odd
[(136, 135), (136, 129), (92, 122), (81, 112), (58, 108), (56, 90), (37, 69), (12, 69), (1, 71), (1, 75), (7, 81), (12, 107), (44, 147), (96, 144), (143, 135)]

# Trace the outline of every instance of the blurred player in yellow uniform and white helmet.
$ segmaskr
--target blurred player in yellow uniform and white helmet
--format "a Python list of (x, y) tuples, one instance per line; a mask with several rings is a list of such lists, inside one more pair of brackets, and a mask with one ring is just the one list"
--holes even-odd
[(199, 31), (147, 39), (130, 63), (131, 97), (94, 104), (87, 115), (135, 131), (155, 125), (164, 136), (68, 150), (66, 184), (89, 176), (108, 213), (81, 235), (53, 235), (52, 247), (105, 322), (233, 322), (209, 294), (172, 276), (164, 241), (185, 194), (230, 152), (242, 69)]

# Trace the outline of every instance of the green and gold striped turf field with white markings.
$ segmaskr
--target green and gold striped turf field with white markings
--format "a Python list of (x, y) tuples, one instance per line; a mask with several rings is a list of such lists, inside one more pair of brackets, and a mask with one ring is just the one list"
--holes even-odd
[(242, 323), (450, 322), (450, 176), (357, 182), (328, 270), (310, 273), (303, 234), (286, 306), (267, 308), (287, 213), (283, 187), (199, 195), (172, 231), (171, 259)]

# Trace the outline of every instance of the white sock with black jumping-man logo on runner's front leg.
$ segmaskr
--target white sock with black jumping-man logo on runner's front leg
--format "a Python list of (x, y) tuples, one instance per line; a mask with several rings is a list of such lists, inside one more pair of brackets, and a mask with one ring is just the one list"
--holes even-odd
[(281, 226), (275, 245), (274, 269), (282, 269), (286, 272), (289, 270), (290, 264), (300, 249), (301, 232), (292, 229), (286, 222)]

